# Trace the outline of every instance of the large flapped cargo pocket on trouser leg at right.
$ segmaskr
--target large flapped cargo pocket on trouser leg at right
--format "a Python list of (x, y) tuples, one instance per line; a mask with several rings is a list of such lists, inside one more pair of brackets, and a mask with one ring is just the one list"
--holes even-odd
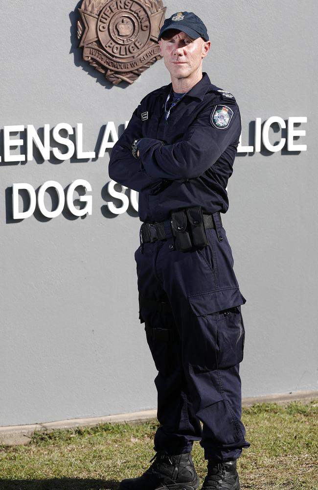
[(226, 288), (188, 296), (198, 319), (197, 345), (200, 363), (193, 372), (230, 368), (243, 360), (244, 324), (240, 305), (246, 299), (238, 288)]

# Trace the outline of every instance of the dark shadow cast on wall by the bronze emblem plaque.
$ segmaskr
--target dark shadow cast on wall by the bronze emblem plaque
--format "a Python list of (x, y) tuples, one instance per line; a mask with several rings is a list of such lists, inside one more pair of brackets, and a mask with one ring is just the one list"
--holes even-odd
[[(87, 72), (93, 78), (95, 78), (96, 83), (100, 83), (106, 89), (111, 89), (114, 87), (113, 83), (109, 82), (103, 73), (98, 72), (93, 68), (88, 61), (83, 60), (83, 48), (79, 48), (79, 39), (77, 37), (77, 21), (79, 20), (78, 9), (81, 7), (83, 0), (80, 0), (75, 9), (69, 13), (70, 20), (70, 44), (71, 49), (69, 51), (70, 54), (74, 56), (74, 64), (78, 67), (81, 67), (82, 70)], [(129, 86), (129, 83), (122, 81), (119, 85), (117, 85), (120, 89), (125, 89)]]

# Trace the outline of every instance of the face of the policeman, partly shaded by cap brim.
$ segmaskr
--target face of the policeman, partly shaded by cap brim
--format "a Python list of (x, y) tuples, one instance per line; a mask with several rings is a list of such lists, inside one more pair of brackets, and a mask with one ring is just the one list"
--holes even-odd
[(159, 41), (160, 54), (173, 78), (185, 78), (202, 71), (202, 60), (210, 49), (210, 41), (192, 39), (184, 32), (169, 29)]

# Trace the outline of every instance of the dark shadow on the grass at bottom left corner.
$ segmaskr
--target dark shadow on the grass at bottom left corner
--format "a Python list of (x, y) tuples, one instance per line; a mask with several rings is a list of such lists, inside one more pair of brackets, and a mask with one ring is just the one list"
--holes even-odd
[(1, 490), (117, 490), (119, 481), (82, 478), (52, 478), (47, 480), (1, 480)]

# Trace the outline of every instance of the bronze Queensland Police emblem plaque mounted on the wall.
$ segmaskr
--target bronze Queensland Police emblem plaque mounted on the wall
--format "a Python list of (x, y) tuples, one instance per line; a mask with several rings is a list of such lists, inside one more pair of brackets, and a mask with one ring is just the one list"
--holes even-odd
[(160, 59), (162, 0), (84, 0), (77, 36), (83, 59), (114, 85), (133, 83)]

